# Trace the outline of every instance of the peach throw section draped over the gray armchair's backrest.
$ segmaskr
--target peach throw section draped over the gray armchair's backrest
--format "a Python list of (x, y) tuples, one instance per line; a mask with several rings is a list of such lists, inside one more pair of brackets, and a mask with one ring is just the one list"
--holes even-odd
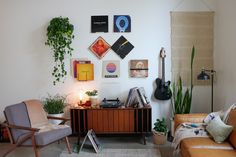
[(28, 110), (31, 127), (38, 128), (48, 124), (47, 115), (39, 100), (27, 100), (24, 103)]

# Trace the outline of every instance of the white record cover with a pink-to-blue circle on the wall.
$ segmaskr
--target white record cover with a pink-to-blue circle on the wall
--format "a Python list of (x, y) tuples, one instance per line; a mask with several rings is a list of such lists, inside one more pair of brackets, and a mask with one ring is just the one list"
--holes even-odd
[(120, 61), (103, 61), (102, 75), (105, 78), (118, 78), (120, 76)]

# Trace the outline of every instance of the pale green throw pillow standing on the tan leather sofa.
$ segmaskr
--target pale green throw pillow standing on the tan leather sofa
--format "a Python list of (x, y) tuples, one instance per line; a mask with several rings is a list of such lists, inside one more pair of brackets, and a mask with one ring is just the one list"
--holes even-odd
[(219, 116), (216, 116), (208, 123), (206, 130), (214, 138), (215, 142), (221, 143), (229, 136), (233, 127), (226, 125)]

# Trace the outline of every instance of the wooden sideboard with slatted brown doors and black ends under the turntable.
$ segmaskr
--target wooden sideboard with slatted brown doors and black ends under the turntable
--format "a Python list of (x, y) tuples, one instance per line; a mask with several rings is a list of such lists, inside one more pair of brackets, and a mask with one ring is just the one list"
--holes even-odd
[(96, 134), (145, 134), (152, 130), (152, 110), (148, 108), (71, 108), (72, 134), (85, 135), (93, 129)]

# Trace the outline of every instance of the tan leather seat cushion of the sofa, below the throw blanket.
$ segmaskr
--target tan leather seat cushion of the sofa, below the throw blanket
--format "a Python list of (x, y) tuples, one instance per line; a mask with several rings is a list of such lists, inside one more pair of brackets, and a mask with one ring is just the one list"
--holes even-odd
[(233, 150), (234, 148), (228, 143), (216, 143), (208, 137), (192, 137), (186, 138), (181, 141), (180, 150), (181, 155), (184, 157), (189, 157), (189, 150), (191, 148), (200, 148), (200, 149), (225, 149)]

